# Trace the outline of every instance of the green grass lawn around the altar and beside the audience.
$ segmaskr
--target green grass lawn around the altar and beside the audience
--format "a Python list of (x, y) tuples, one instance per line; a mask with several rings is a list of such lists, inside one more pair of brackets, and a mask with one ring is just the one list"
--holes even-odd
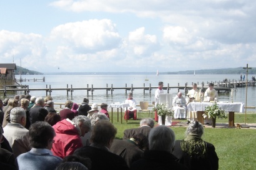
[[(111, 115), (111, 114), (110, 114)], [(147, 114), (142, 117), (147, 117)], [(185, 121), (185, 120), (174, 120)], [(244, 123), (245, 115), (235, 113), (235, 123)], [(123, 131), (129, 128), (139, 127), (139, 120), (123, 120), (121, 124), (120, 113), (117, 122), (117, 113), (114, 113), (113, 124), (117, 128), (116, 138), (122, 139)], [(219, 120), (217, 123), (228, 123), (228, 119)], [(247, 123), (256, 123), (256, 113), (247, 114)], [(184, 127), (171, 127), (174, 130), (176, 139), (183, 139)], [(237, 128), (205, 128), (205, 141), (214, 144), (216, 153), (219, 156), (220, 170), (233, 169), (256, 169), (256, 130)]]

